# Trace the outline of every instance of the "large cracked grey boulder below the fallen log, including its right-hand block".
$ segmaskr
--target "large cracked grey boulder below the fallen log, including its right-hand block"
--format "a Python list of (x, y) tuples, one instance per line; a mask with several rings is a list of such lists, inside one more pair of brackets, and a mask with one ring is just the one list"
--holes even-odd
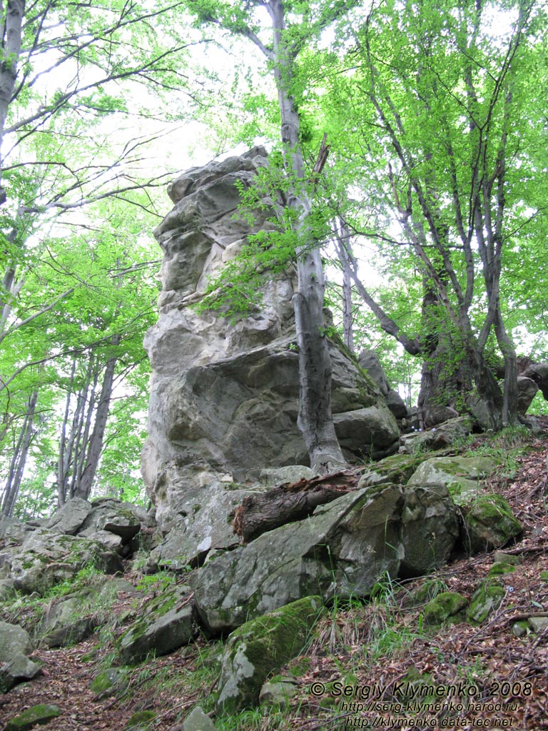
[(197, 613), (222, 632), (303, 596), (367, 595), (386, 573), (419, 575), (444, 563), (457, 532), (454, 504), (440, 488), (347, 493), (206, 561), (193, 579)]

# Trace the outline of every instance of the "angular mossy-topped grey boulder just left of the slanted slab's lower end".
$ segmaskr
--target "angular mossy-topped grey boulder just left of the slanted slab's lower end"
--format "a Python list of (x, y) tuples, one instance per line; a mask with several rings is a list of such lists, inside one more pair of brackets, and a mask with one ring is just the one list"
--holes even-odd
[(149, 652), (167, 655), (194, 637), (189, 587), (174, 586), (149, 602), (147, 613), (129, 627), (120, 640), (121, 662), (131, 665)]

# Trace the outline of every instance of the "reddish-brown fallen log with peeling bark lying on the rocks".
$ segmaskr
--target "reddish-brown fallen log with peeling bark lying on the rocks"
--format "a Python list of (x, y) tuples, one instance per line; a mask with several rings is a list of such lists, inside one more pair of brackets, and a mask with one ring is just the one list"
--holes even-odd
[(262, 533), (302, 520), (319, 505), (336, 500), (357, 488), (358, 475), (345, 470), (283, 485), (244, 498), (235, 510), (232, 528), (247, 543)]

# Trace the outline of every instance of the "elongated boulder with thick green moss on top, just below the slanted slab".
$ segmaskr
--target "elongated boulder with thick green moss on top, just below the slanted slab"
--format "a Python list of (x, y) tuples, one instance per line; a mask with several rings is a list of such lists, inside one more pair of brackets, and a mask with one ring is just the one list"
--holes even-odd
[(322, 607), (321, 596), (305, 596), (232, 632), (221, 664), (218, 713), (257, 705), (267, 676), (305, 648)]

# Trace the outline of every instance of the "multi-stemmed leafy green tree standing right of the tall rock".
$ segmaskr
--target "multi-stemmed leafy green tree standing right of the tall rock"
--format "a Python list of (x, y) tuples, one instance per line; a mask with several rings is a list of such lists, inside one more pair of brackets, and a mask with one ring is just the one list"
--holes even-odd
[[(349, 31), (351, 50), (325, 67), (333, 148), (346, 152), (347, 168), (351, 151), (350, 175), (367, 187), (368, 221), (342, 203), (346, 222), (408, 262), (404, 249), (411, 251), (423, 282), (422, 325), (408, 334), (389, 317), (359, 280), (350, 249), (349, 271), (381, 327), (425, 358), (419, 406), (430, 423), (449, 404), (468, 404), (492, 428), (517, 420), (504, 262), (511, 251), (528, 257), (522, 242), (545, 208), (545, 20), (535, 2), (506, 4), (501, 34), (491, 25), (497, 7), (425, 1), (417, 12), (406, 1), (373, 4)], [(494, 344), (502, 389), (488, 357)]]

